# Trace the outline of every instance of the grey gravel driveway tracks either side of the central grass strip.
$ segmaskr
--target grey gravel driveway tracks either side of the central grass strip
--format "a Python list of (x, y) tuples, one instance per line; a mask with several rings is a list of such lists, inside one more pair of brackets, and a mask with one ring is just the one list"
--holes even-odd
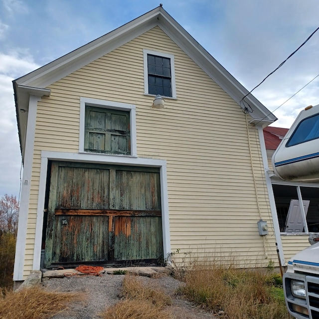
[[(140, 276), (152, 285), (159, 286), (172, 299), (170, 311), (174, 319), (213, 319), (218, 318), (209, 312), (196, 307), (180, 296), (175, 295), (175, 290), (182, 285), (174, 278), (162, 275), (160, 278), (148, 278)], [(68, 306), (68, 309), (55, 315), (52, 319), (98, 319), (99, 313), (120, 301), (120, 292), (124, 275), (102, 276), (71, 276), (65, 278), (51, 278), (43, 281), (43, 286), (48, 290), (62, 292), (81, 292), (84, 300), (76, 301)]]

